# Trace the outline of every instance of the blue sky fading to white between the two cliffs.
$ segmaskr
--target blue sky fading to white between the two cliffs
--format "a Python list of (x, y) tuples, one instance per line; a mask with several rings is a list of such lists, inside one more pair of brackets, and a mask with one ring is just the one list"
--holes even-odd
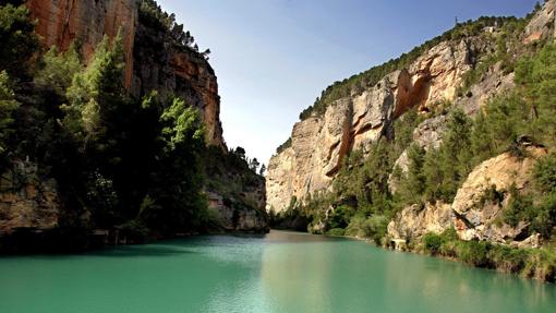
[(411, 50), (458, 21), (523, 16), (534, 0), (158, 0), (218, 76), (228, 147), (268, 162), (335, 81)]

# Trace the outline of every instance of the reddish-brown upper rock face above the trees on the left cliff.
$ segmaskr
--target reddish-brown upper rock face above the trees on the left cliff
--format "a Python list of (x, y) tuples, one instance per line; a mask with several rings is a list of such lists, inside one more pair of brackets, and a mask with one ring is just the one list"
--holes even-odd
[(168, 34), (140, 21), (136, 0), (27, 0), (36, 32), (45, 47), (67, 49), (77, 40), (86, 60), (104, 36), (121, 29), (125, 51), (125, 86), (134, 96), (157, 89), (198, 107), (207, 142), (226, 148), (220, 123), (218, 84), (210, 64), (200, 55), (174, 44)]

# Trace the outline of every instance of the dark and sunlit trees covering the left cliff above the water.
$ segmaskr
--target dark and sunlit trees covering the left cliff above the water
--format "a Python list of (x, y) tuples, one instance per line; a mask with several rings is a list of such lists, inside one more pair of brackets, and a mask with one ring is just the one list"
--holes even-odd
[[(182, 29), (156, 2), (141, 8), (159, 27)], [(105, 37), (85, 64), (76, 44), (43, 53), (28, 15), (24, 5), (0, 7), (0, 172), (28, 159), (40, 179), (56, 179), (60, 231), (116, 228), (135, 239), (202, 231), (215, 167), (259, 182), (244, 151), (206, 147), (197, 108), (156, 91), (129, 95), (120, 36)]]

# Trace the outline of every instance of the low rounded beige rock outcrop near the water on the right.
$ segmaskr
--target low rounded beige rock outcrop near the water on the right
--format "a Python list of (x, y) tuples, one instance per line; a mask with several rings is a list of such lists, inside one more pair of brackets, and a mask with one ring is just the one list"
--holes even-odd
[[(525, 222), (515, 227), (501, 222), (511, 198), (510, 186), (513, 184), (520, 192), (527, 190), (535, 160), (546, 155), (546, 149), (541, 147), (528, 147), (527, 152), (529, 156), (524, 159), (505, 153), (475, 167), (451, 204), (404, 208), (388, 225), (388, 237), (394, 242), (415, 241), (426, 232), (440, 233), (454, 227), (462, 240), (487, 240), (501, 244), (509, 241), (518, 246), (537, 246), (539, 236), (522, 236), (528, 227)], [(503, 198), (486, 198), (489, 189), (496, 190)]]

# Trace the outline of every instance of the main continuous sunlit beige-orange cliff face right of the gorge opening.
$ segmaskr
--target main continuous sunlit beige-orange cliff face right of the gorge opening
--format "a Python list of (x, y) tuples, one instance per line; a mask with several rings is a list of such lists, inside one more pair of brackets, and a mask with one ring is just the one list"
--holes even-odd
[(421, 111), (454, 99), (473, 56), (484, 47), (467, 40), (443, 41), (418, 58), (407, 70), (386, 75), (361, 95), (331, 104), (323, 117), (298, 122), (291, 146), (270, 158), (267, 209), (285, 209), (292, 196), (330, 186), (343, 157), (363, 151), (380, 136), (391, 136), (395, 119), (412, 107)]

